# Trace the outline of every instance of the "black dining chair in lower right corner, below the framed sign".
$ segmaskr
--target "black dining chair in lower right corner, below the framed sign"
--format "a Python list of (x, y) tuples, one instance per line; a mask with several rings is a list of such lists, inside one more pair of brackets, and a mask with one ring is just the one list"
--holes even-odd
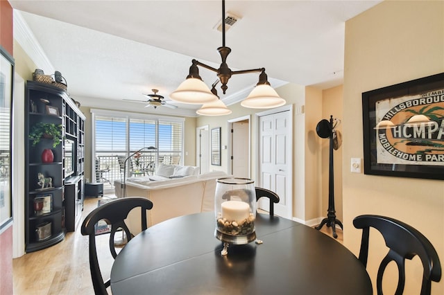
[(382, 295), (382, 276), (389, 262), (394, 261), (398, 265), (398, 287), (395, 295), (401, 295), (404, 292), (405, 284), (405, 259), (411, 260), (418, 255), (424, 272), (422, 275), (422, 286), (420, 295), (429, 295), (431, 292), (432, 280), (439, 282), (441, 280), (441, 264), (438, 253), (432, 243), (425, 238), (422, 233), (413, 229), (409, 224), (400, 222), (390, 217), (379, 215), (360, 215), (355, 217), (353, 225), (357, 229), (362, 229), (361, 249), (359, 251), (359, 260), (364, 267), (367, 266), (368, 258), (368, 238), (370, 227), (377, 229), (389, 248), (387, 255), (379, 265), (377, 271), (377, 294)]

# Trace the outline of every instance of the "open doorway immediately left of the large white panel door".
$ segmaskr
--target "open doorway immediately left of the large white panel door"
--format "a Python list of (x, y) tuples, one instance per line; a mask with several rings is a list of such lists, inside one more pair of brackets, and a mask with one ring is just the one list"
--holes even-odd
[(250, 178), (250, 116), (228, 120), (228, 173)]

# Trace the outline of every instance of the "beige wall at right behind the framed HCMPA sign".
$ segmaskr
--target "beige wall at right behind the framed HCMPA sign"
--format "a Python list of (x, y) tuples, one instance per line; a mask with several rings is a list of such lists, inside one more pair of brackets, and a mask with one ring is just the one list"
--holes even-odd
[[(346, 22), (343, 222), (345, 246), (356, 254), (361, 231), (353, 227), (352, 219), (366, 213), (388, 215), (422, 232), (434, 244), (441, 265), (444, 263), (444, 181), (370, 176), (349, 170), (350, 158), (364, 157), (361, 93), (442, 72), (444, 1), (384, 1)], [(370, 236), (368, 270), (375, 278), (385, 245), (379, 235)], [(404, 294), (419, 294), (420, 263), (415, 258), (408, 265)], [(393, 289), (394, 280), (388, 280), (389, 288)], [(432, 294), (444, 294), (443, 278), (432, 283)]]

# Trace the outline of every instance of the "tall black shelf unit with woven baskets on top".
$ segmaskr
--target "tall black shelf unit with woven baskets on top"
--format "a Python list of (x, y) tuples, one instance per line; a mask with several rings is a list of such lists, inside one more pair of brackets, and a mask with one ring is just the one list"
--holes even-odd
[[(83, 205), (83, 146), (85, 116), (69, 98), (66, 91), (53, 87), (51, 84), (28, 81), (26, 83), (25, 107), (25, 251), (33, 252), (57, 244), (65, 238), (67, 231), (65, 218), (67, 204), (65, 197), (65, 182), (76, 177), (78, 191), (74, 196), (78, 203)], [(37, 123), (53, 123), (60, 125), (62, 138), (69, 138), (74, 142), (73, 170), (67, 177), (65, 174), (65, 139), (53, 147), (53, 140), (42, 138), (33, 145), (28, 138), (32, 127)], [(78, 129), (81, 129), (79, 131)], [(43, 163), (42, 152), (51, 149), (54, 155), (53, 162)], [(82, 150), (81, 157), (78, 150)], [(82, 165), (79, 165), (79, 164)], [(52, 184), (42, 188), (39, 183), (39, 174), (51, 177)], [(35, 199), (45, 197), (44, 210), (35, 210)], [(69, 211), (69, 210), (68, 210)], [(42, 234), (42, 225), (46, 226)], [(38, 230), (40, 228), (40, 231)], [(51, 230), (48, 231), (48, 228)]]

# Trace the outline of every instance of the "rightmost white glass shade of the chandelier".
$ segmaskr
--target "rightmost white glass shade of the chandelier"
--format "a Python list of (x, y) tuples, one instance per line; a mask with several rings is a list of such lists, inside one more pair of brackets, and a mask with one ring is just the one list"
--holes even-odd
[(285, 100), (270, 85), (259, 84), (242, 100), (241, 105), (252, 109), (271, 109), (285, 105)]

